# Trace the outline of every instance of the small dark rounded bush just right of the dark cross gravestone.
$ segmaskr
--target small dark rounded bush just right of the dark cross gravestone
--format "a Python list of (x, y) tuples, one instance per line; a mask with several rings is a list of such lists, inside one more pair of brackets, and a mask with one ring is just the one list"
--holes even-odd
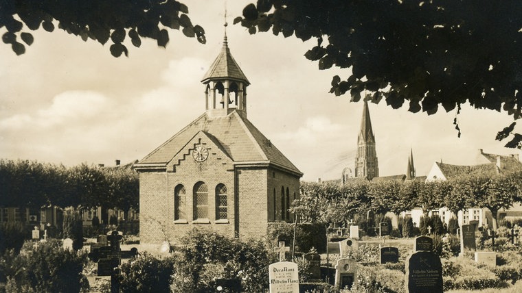
[(122, 292), (170, 292), (174, 275), (174, 258), (157, 259), (150, 253), (140, 253), (122, 264)]

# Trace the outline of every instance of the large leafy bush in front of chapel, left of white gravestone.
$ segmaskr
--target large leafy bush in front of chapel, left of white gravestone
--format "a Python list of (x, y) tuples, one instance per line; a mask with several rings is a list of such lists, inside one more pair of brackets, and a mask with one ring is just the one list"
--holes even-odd
[(275, 255), (260, 241), (243, 242), (215, 232), (194, 230), (174, 248), (172, 288), (176, 292), (213, 292), (215, 279), (241, 279), (242, 292), (264, 292)]

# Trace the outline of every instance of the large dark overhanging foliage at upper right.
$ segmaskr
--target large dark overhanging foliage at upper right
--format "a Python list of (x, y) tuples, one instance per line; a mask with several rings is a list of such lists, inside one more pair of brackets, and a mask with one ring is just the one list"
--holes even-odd
[[(319, 69), (350, 68), (334, 76), (330, 92), (351, 101), (434, 114), (468, 102), (521, 118), (522, 5), (487, 0), (258, 0), (234, 20), (250, 34), (317, 39), (306, 52)], [(459, 132), (457, 118), (455, 129)], [(522, 148), (514, 126), (497, 140)]]

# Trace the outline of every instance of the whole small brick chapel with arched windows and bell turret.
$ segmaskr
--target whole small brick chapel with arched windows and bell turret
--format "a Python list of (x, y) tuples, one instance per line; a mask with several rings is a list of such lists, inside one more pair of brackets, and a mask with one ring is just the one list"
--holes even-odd
[(201, 80), (205, 112), (135, 164), (141, 243), (178, 242), (194, 228), (262, 238), (292, 221), (303, 173), (247, 119), (250, 82), (223, 49)]

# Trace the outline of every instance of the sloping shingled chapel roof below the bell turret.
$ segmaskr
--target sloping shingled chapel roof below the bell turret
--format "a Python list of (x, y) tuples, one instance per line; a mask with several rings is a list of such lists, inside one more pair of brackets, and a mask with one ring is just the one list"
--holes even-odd
[(303, 175), (303, 173), (286, 158), (271, 141), (266, 138), (247, 118), (236, 110), (227, 116), (209, 116), (207, 112), (192, 123), (174, 134), (172, 138), (161, 144), (142, 160), (137, 167), (147, 164), (168, 164), (183, 149), (196, 133), (203, 131), (214, 138), (214, 143), (225, 152), (234, 163), (262, 162), (269, 163), (285, 170)]

